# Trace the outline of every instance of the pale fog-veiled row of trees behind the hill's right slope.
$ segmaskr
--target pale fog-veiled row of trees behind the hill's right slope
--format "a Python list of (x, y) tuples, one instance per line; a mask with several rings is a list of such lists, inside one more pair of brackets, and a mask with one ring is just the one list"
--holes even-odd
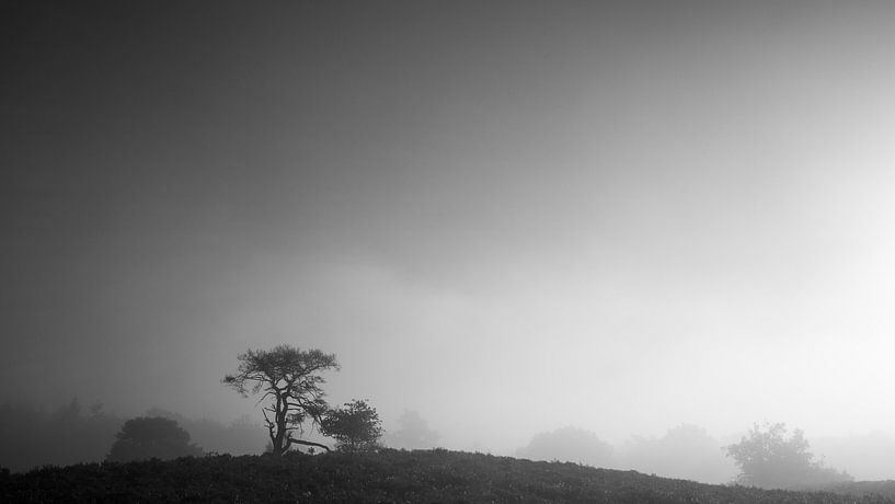
[(662, 437), (634, 436), (613, 447), (589, 431), (563, 427), (535, 435), (515, 455), (768, 489), (824, 488), (853, 481), (853, 476), (892, 479), (895, 442), (881, 434), (860, 440), (841, 438), (833, 445), (826, 439), (821, 444), (824, 450), (817, 451), (801, 429), (765, 423), (755, 424), (738, 443), (723, 444), (702, 427), (679, 425)]

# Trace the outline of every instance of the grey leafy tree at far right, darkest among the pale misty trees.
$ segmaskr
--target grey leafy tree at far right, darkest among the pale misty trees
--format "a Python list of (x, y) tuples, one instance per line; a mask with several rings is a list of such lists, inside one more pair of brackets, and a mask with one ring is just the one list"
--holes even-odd
[(801, 429), (787, 437), (785, 424), (766, 423), (764, 429), (755, 424), (747, 437), (726, 451), (739, 466), (738, 480), (744, 484), (784, 489), (851, 481), (848, 473), (815, 461), (808, 448)]

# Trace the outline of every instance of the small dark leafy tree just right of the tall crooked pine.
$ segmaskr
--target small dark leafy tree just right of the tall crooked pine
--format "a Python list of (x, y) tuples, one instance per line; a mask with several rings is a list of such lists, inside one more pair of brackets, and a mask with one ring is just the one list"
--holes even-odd
[(382, 422), (376, 408), (355, 399), (328, 411), (321, 421), (321, 432), (335, 438), (340, 450), (356, 453), (379, 446)]

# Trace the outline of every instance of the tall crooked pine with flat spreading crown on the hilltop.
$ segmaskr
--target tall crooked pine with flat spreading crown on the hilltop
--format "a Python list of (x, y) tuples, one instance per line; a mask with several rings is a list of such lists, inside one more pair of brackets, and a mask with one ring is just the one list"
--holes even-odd
[(320, 388), (325, 382), (320, 376), (329, 369), (339, 370), (335, 354), (324, 354), (313, 348), (301, 351), (290, 345), (279, 345), (269, 351), (249, 350), (239, 357), (239, 369), (223, 377), (222, 382), (234, 388), (242, 397), (262, 393), (262, 408), (272, 453), (285, 454), (294, 444), (317, 446), (330, 451), (320, 443), (295, 437), (295, 432), (303, 433), (306, 421), (311, 428), (320, 425), (329, 410), (325, 396)]

